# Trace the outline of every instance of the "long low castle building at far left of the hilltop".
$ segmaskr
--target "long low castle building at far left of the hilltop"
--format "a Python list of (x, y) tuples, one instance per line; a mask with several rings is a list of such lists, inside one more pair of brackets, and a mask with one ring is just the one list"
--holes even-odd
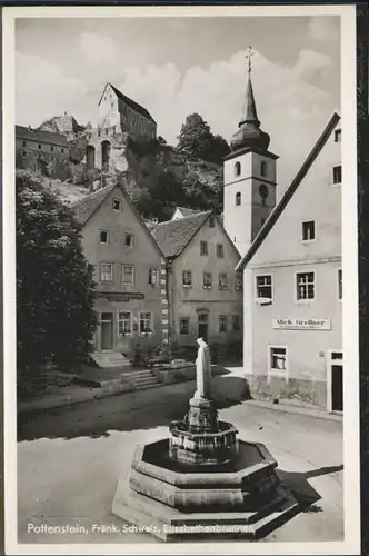
[(16, 126), (16, 167), (53, 179), (70, 178), (70, 146), (66, 136)]

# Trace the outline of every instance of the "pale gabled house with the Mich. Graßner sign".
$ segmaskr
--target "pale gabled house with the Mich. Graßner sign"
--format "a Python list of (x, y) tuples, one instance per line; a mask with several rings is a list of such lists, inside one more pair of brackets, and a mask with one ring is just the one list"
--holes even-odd
[(340, 117), (335, 113), (238, 266), (257, 397), (342, 410)]

